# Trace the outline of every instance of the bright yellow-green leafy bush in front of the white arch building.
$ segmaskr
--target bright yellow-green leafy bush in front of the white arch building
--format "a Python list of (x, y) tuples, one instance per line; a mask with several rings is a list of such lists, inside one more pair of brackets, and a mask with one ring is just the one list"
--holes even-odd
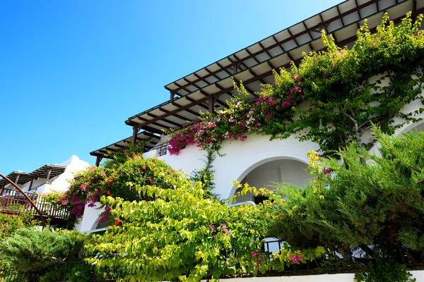
[[(152, 170), (156, 177), (164, 173)], [(102, 198), (112, 207), (114, 226), (88, 245), (100, 254), (88, 259), (98, 271), (126, 269), (124, 281), (199, 281), (269, 269), (261, 245), (276, 202), (230, 208), (205, 198), (200, 182), (179, 173), (164, 180), (175, 189), (134, 184), (141, 198), (153, 201)]]

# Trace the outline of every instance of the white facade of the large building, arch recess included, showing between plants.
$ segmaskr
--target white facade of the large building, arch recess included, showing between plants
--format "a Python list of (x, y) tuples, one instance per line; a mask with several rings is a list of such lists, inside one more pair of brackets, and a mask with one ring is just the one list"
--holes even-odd
[[(412, 102), (404, 108), (404, 112), (411, 112), (420, 109), (423, 104), (420, 101)], [(416, 118), (424, 118), (424, 113)], [(399, 122), (399, 121), (398, 121)], [(410, 130), (422, 130), (424, 121), (418, 123), (405, 124), (396, 135)], [(364, 141), (370, 138), (370, 135), (363, 137)], [(163, 140), (167, 140), (164, 137)], [(378, 145), (375, 145), (371, 152), (377, 151)], [(216, 157), (213, 162), (215, 170), (214, 183), (216, 185), (216, 194), (221, 199), (228, 199), (235, 195), (236, 188), (232, 185), (233, 180), (242, 183), (247, 182), (257, 188), (271, 188), (273, 183), (290, 183), (300, 187), (310, 179), (310, 174), (305, 171), (309, 161), (306, 154), (311, 149), (319, 150), (319, 145), (314, 142), (300, 142), (295, 135), (285, 140), (270, 141), (269, 135), (252, 134), (244, 142), (226, 140), (220, 149), (223, 157)], [(179, 155), (170, 155), (169, 152), (163, 156), (158, 155), (158, 150), (146, 152), (144, 157), (157, 157), (175, 169), (182, 169), (189, 174), (194, 169), (204, 167), (206, 152), (196, 147), (196, 145), (187, 146), (182, 149)], [(252, 201), (252, 195), (245, 195), (237, 202)], [(89, 208), (83, 215), (83, 219), (78, 226), (80, 231), (90, 231), (97, 227), (97, 219), (102, 209)]]

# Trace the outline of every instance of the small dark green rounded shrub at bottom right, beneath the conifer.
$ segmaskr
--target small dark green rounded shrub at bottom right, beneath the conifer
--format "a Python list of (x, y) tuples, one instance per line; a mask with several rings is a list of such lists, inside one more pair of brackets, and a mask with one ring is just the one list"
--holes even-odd
[(370, 264), (367, 271), (355, 274), (357, 282), (415, 282), (416, 278), (411, 278), (404, 266), (393, 261), (379, 261)]

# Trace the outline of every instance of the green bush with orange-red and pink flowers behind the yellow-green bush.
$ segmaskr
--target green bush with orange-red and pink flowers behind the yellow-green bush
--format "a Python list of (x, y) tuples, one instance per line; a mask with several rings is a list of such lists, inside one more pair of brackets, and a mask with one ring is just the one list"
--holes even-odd
[[(62, 201), (71, 210), (73, 218), (83, 215), (86, 205), (94, 207), (102, 196), (119, 196), (125, 200), (152, 200), (152, 197), (141, 197), (134, 190), (134, 185), (160, 185), (173, 188), (165, 178), (173, 178), (175, 171), (159, 159), (144, 159), (140, 154), (131, 154), (126, 159), (110, 161), (105, 167), (92, 166), (76, 173)], [(160, 173), (159, 173), (160, 172)], [(101, 221), (108, 218), (109, 207)]]

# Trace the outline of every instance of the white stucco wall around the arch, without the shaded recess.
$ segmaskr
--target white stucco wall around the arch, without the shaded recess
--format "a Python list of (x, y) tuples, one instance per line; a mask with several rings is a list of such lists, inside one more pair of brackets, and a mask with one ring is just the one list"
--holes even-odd
[[(319, 149), (317, 144), (309, 141), (300, 142), (295, 136), (291, 136), (285, 140), (273, 140), (271, 142), (269, 138), (269, 135), (252, 134), (247, 137), (245, 142), (230, 142), (228, 140), (223, 142), (220, 153), (224, 154), (224, 156), (217, 156), (213, 162), (213, 169), (215, 170), (215, 192), (221, 198), (225, 199), (234, 195), (235, 188), (232, 187), (233, 180), (243, 180), (251, 171), (262, 164), (279, 159), (308, 164), (306, 157), (307, 151), (310, 149)], [(204, 162), (201, 159), (204, 159), (205, 153), (195, 145), (192, 145), (182, 149), (178, 156), (166, 154), (158, 158), (163, 159), (173, 168), (182, 168), (186, 173), (190, 173), (194, 168), (202, 168), (204, 166)], [(153, 152), (147, 152), (144, 156), (152, 157), (153, 154)], [(304, 171), (302, 169), (293, 175), (293, 177), (297, 178), (297, 175), (301, 176), (303, 173)], [(294, 178), (287, 181), (283, 180), (283, 182), (294, 183)], [(300, 180), (295, 184), (302, 183), (303, 180)]]

